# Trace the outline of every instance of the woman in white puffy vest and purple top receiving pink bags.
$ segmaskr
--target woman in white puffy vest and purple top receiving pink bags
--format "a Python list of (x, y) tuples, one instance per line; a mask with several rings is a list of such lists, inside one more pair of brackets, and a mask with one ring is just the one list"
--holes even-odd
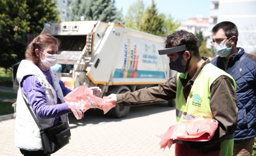
[[(60, 41), (50, 34), (36, 37), (26, 49), (26, 59), (22, 60), (17, 71), (20, 84), (16, 106), (15, 145), (24, 156), (49, 156), (42, 151), (39, 128), (30, 114), (22, 97), (29, 102), (42, 129), (66, 122), (69, 106), (63, 100), (71, 90), (67, 89), (60, 76), (51, 71), (57, 63)], [(101, 90), (93, 88), (94, 95)]]

